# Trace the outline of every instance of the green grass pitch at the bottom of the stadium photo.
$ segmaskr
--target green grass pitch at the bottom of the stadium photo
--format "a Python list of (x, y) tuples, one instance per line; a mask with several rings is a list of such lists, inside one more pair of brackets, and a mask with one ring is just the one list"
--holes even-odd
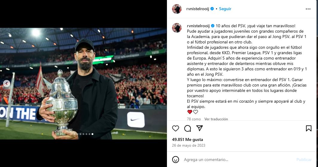
[[(53, 139), (52, 130), (56, 125), (10, 121), (5, 127), (5, 120), (0, 120), (0, 139)], [(167, 139), (167, 134), (137, 132), (132, 130), (116, 130), (113, 139)]]

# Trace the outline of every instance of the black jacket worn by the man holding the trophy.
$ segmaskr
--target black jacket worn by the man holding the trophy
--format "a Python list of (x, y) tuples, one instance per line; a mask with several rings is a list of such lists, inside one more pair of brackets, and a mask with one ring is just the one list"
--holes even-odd
[[(77, 70), (66, 78), (72, 86)], [(88, 104), (88, 118), (82, 122), (82, 127), (77, 133), (93, 133), (93, 135), (79, 135), (79, 139), (112, 139), (111, 130), (117, 121), (118, 103), (113, 80), (100, 75), (93, 67), (93, 77), (82, 92), (83, 102)], [(37, 111), (37, 119), (43, 118)]]

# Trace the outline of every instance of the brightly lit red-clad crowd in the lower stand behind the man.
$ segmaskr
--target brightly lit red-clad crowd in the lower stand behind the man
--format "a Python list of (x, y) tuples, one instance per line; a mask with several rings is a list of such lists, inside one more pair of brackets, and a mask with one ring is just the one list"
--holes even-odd
[[(115, 83), (118, 103), (129, 105), (130, 108), (139, 108), (141, 105), (167, 105), (167, 63), (142, 64), (134, 66), (119, 66), (111, 69), (97, 69), (100, 74), (109, 77), (109, 74), (124, 74), (126, 79)], [(67, 77), (70, 72), (63, 73)], [(53, 83), (56, 72), (43, 73), (43, 77)], [(10, 80), (10, 76), (2, 75)], [(41, 103), (49, 96), (50, 89), (45, 87), (45, 95), (35, 88), (37, 75), (17, 75), (15, 80), (21, 82), (20, 87), (13, 89), (14, 104), (24, 105)], [(10, 91), (0, 90), (0, 102), (5, 104), (3, 97), (9, 99)]]

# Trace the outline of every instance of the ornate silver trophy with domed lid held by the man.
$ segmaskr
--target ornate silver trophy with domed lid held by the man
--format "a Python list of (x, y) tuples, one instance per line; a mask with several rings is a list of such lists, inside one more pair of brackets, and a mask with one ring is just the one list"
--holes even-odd
[(52, 83), (50, 98), (45, 104), (52, 104), (53, 106), (47, 108), (47, 111), (53, 111), (54, 114), (50, 115), (55, 117), (55, 122), (58, 123), (58, 128), (54, 131), (57, 136), (66, 135), (62, 132), (63, 129), (72, 131), (67, 127), (76, 115), (78, 110), (77, 99), (71, 93), (70, 86), (65, 78), (62, 77), (63, 71), (58, 71), (58, 76)]

